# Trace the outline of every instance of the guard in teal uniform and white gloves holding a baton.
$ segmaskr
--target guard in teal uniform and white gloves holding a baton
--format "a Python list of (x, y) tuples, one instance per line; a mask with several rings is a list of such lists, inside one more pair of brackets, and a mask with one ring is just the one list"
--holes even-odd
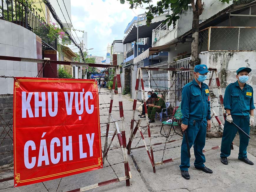
[[(227, 165), (227, 157), (230, 156), (231, 144), (237, 133), (237, 128), (232, 121), (237, 124), (245, 133), (249, 135), (250, 126), (254, 123), (253, 89), (245, 82), (249, 79), (249, 73), (252, 69), (241, 67), (237, 70), (237, 81), (227, 86), (224, 95), (224, 108), (226, 109), (226, 121), (221, 141), (220, 160)], [(253, 162), (247, 158), (247, 146), (249, 138), (239, 131), (240, 145), (238, 159), (253, 165)]]

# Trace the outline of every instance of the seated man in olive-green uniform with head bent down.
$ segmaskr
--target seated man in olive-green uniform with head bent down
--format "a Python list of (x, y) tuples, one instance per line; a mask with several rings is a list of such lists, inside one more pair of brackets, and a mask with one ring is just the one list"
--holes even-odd
[[(151, 99), (154, 101), (154, 104), (148, 104), (148, 117), (150, 119), (149, 123), (154, 123), (156, 112), (162, 112), (162, 109), (164, 109), (166, 106), (165, 101), (161, 97), (158, 97), (155, 93), (151, 94)], [(165, 110), (163, 110), (163, 112), (164, 111)]]

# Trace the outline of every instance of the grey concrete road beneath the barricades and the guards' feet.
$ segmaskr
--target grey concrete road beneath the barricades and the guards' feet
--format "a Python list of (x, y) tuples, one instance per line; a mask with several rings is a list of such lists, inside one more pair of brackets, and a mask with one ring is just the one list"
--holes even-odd
[[(100, 103), (109, 103), (110, 95), (107, 93), (107, 89), (101, 89), (102, 94), (99, 96)], [(124, 117), (125, 117), (125, 131), (127, 141), (129, 139), (130, 122), (132, 117), (132, 100), (129, 97), (123, 97), (124, 105)], [(138, 103), (139, 104), (139, 103)], [(100, 107), (108, 107), (109, 104), (101, 105)], [(115, 120), (119, 119), (119, 108), (118, 106), (118, 96), (114, 96), (114, 108), (112, 109), (112, 114)], [(107, 122), (108, 108), (101, 108), (100, 118), (101, 123)], [(136, 113), (136, 119), (139, 117)], [(120, 123), (118, 122), (119, 126)], [(145, 126), (145, 119), (142, 120), (141, 126)], [(102, 124), (104, 126), (104, 124)], [(159, 134), (161, 123), (159, 119), (155, 123), (151, 123), (151, 136), (152, 143), (165, 142), (166, 138), (161, 137)], [(168, 129), (168, 128), (167, 128)], [(145, 129), (142, 129), (144, 132)], [(167, 130), (166, 130), (167, 131)], [(104, 136), (106, 133), (106, 127), (101, 128), (101, 134)], [(114, 133), (113, 123), (110, 126), (110, 133)], [(147, 131), (144, 133), (146, 137), (145, 140), (149, 144), (147, 138)], [(238, 136), (239, 137), (239, 136)], [(172, 134), (168, 140), (179, 139), (180, 136)], [(111, 136), (109, 137), (109, 140)], [(207, 139), (205, 148), (210, 148), (213, 146), (218, 146), (221, 144), (221, 138), (211, 138)], [(239, 139), (235, 139), (235, 144), (239, 146)], [(132, 147), (143, 146), (143, 142), (140, 139), (139, 132), (136, 134)], [(168, 143), (166, 145), (154, 146), (154, 160), (162, 161), (168, 158), (176, 158), (180, 156), (180, 145), (181, 140), (175, 141), (173, 143)], [(102, 137), (102, 146), (104, 146), (104, 137)], [(165, 146), (165, 150), (164, 149)], [(228, 158), (229, 164), (223, 165), (220, 162), (220, 149), (208, 151), (205, 153), (206, 163), (205, 165), (213, 170), (213, 174), (207, 174), (203, 171), (195, 169), (193, 162), (195, 160), (192, 156), (190, 160), (191, 167), (189, 168), (190, 180), (185, 180), (181, 177), (179, 170), (180, 160), (160, 165), (156, 167), (156, 173), (153, 173), (149, 157), (145, 148), (139, 148), (132, 150), (132, 156), (128, 155), (129, 166), (132, 172), (132, 179), (130, 179), (130, 186), (125, 186), (125, 181), (119, 183), (112, 183), (106, 186), (92, 189), (91, 191), (104, 191), (104, 192), (139, 192), (139, 191), (256, 191), (256, 166), (248, 165), (237, 159), (239, 147), (234, 146), (234, 150), (231, 152), (231, 156)], [(248, 158), (256, 163), (256, 137), (252, 136), (250, 140), (250, 146), (248, 147)], [(114, 138), (111, 148), (117, 148), (109, 151), (108, 162), (104, 164), (104, 168), (96, 171), (90, 171), (87, 173), (81, 173), (74, 176), (59, 178), (51, 181), (46, 181), (44, 183), (37, 183), (28, 186), (22, 186), (19, 188), (8, 188), (13, 186), (13, 181), (7, 181), (0, 183), (0, 191), (70, 191), (77, 188), (81, 188), (94, 183), (103, 182), (106, 180), (114, 179), (117, 177), (124, 176), (124, 165), (123, 155), (120, 150), (117, 137)], [(193, 149), (191, 149), (193, 153)], [(115, 164), (109, 166), (109, 163)], [(116, 164), (118, 163), (118, 164)], [(137, 165), (137, 168), (135, 167)], [(10, 169), (10, 168), (5, 168)], [(3, 170), (3, 168), (2, 168)], [(139, 171), (138, 171), (139, 170)], [(6, 178), (11, 176), (11, 170), (1, 171), (0, 178)], [(6, 188), (6, 189), (3, 189)]]

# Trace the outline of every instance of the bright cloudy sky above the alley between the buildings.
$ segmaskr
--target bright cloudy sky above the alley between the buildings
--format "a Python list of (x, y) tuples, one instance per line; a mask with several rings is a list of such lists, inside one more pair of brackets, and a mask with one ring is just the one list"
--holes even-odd
[(122, 40), (129, 22), (147, 11), (145, 7), (132, 10), (119, 0), (71, 0), (71, 20), (74, 29), (87, 31), (87, 49), (94, 48), (89, 54), (105, 58), (108, 43)]

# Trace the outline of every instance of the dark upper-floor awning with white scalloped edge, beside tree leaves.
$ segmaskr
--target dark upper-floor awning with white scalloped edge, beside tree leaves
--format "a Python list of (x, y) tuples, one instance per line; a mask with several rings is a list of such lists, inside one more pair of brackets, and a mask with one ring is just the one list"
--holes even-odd
[[(139, 21), (139, 38), (146, 38), (152, 36), (152, 30), (156, 29), (162, 21), (166, 19), (167, 14), (162, 14), (160, 16), (155, 16), (152, 20), (152, 23), (147, 26), (146, 21), (147, 19), (143, 19)], [(130, 43), (137, 40), (137, 21), (131, 26), (130, 30), (126, 34), (123, 39), (123, 44)]]

